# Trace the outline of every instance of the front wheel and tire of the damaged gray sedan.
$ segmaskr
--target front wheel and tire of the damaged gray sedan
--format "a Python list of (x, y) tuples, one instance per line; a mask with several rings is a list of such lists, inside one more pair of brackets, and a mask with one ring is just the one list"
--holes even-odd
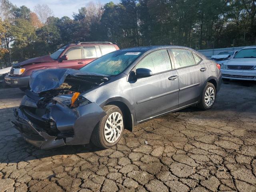
[(100, 148), (111, 148), (116, 145), (124, 132), (124, 118), (118, 106), (107, 105), (103, 107), (106, 116), (95, 126), (91, 142)]

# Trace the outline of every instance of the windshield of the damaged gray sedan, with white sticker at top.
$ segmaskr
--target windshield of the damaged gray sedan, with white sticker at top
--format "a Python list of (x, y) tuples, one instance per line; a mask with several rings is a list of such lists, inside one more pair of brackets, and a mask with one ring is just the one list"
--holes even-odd
[(90, 62), (80, 70), (104, 75), (118, 75), (141, 54), (142, 52), (112, 52)]

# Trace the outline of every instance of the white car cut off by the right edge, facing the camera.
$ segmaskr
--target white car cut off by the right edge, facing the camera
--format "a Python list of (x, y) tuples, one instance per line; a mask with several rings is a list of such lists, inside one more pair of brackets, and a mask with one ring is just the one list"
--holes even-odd
[(241, 49), (221, 65), (222, 78), (256, 80), (256, 46)]

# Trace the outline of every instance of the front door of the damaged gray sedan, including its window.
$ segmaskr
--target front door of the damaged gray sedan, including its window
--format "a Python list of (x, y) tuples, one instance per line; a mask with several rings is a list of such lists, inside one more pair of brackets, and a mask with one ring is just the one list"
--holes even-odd
[(143, 121), (178, 108), (178, 74), (172, 70), (168, 51), (154, 51), (137, 64), (153, 75), (132, 83), (136, 120)]

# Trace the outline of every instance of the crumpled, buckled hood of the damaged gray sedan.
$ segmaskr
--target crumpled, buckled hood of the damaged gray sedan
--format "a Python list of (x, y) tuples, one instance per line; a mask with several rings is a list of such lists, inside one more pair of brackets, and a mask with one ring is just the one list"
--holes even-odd
[[(31, 90), (39, 94), (40, 92), (45, 92), (48, 90), (53, 90), (59, 88), (65, 81), (67, 76), (80, 76), (81, 78), (86, 77), (92, 81), (92, 83), (104, 82), (102, 78), (106, 78), (102, 74), (90, 73), (90, 72), (81, 72), (80, 70), (73, 69), (44, 69), (32, 72), (29, 80), (29, 85)], [(86, 82), (84, 82), (86, 83)]]

